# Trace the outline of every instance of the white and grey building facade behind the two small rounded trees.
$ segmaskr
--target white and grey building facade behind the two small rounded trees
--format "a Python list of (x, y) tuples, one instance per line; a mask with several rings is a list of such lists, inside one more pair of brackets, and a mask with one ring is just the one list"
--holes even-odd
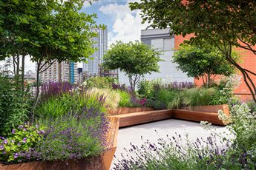
[[(174, 55), (174, 35), (170, 35), (170, 29), (150, 29), (141, 31), (141, 41), (144, 44), (148, 44), (153, 48), (163, 50), (163, 55), (160, 58), (158, 64), (160, 66), (160, 72), (152, 72), (151, 75), (144, 75), (146, 80), (162, 79), (165, 83), (177, 82), (194, 82), (194, 78), (189, 78), (185, 72), (177, 69), (177, 64), (172, 62), (172, 56)], [(119, 83), (129, 85), (128, 76), (125, 72), (119, 72)]]

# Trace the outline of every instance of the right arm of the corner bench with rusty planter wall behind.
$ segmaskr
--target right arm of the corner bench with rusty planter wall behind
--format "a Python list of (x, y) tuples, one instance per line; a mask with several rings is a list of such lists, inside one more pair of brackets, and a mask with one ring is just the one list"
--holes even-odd
[(183, 120), (192, 121), (208, 121), (209, 123), (216, 125), (225, 125), (222, 120), (218, 118), (218, 110), (223, 110), (224, 114), (229, 116), (228, 105), (216, 105), (216, 106), (193, 106), (186, 109), (174, 109), (173, 117)]

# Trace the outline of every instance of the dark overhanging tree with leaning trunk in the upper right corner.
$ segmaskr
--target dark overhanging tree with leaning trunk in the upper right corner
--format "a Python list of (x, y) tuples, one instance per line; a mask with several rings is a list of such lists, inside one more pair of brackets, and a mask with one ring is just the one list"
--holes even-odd
[(256, 55), (256, 1), (215, 0), (142, 0), (131, 3), (131, 9), (141, 9), (143, 22), (151, 27), (171, 28), (171, 33), (186, 36), (194, 34), (187, 43), (200, 44), (202, 39), (214, 44), (227, 61), (237, 67), (256, 102), (256, 87), (252, 76), (232, 58), (232, 47), (241, 47)]

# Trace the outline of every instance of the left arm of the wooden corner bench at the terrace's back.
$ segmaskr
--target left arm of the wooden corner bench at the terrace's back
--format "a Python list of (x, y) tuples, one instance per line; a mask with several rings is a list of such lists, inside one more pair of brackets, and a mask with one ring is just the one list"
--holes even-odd
[(119, 127), (131, 126), (140, 123), (148, 123), (156, 120), (164, 120), (171, 118), (172, 110), (154, 110), (147, 112), (134, 112), (122, 115), (110, 116), (119, 118)]

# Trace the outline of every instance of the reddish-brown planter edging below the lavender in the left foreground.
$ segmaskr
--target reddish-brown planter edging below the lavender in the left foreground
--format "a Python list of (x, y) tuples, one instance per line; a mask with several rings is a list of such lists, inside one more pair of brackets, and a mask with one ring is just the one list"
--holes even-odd
[(110, 118), (110, 129), (107, 135), (108, 146), (104, 153), (98, 157), (84, 158), (81, 160), (34, 161), (13, 165), (1, 165), (1, 170), (108, 170), (116, 152), (119, 118)]

